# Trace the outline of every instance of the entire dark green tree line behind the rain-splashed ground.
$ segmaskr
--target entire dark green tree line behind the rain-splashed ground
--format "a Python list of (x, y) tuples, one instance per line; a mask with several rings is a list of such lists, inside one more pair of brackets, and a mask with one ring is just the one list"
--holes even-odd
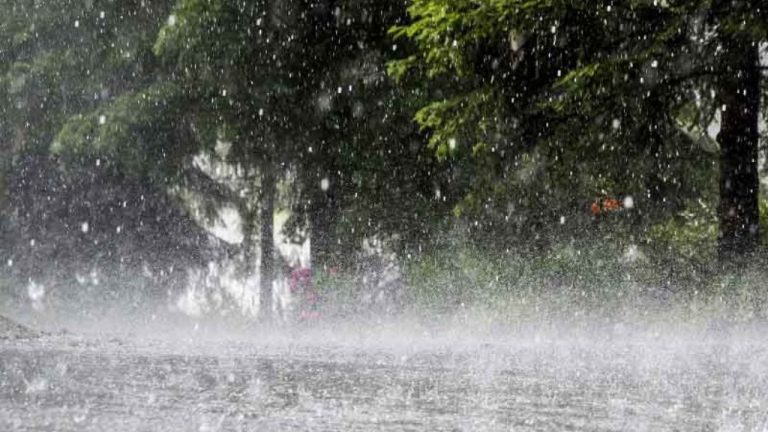
[[(119, 261), (139, 239), (238, 256), (267, 292), (278, 210), (318, 272), (457, 232), (539, 250), (616, 222), (651, 242), (694, 210), (723, 260), (760, 244), (757, 0), (0, 6), (4, 256)], [(239, 243), (205, 226), (227, 206)]]

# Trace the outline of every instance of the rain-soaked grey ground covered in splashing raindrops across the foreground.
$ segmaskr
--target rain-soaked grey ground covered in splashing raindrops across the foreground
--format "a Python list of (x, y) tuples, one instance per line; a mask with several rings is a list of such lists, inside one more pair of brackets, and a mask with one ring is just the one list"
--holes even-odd
[(333, 334), (2, 340), (0, 430), (768, 430), (759, 331)]

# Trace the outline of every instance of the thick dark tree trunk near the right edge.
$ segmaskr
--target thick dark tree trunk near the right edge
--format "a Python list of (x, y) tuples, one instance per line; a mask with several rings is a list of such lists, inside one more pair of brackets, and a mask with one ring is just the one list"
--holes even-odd
[(723, 261), (753, 252), (759, 238), (758, 111), (759, 52), (746, 37), (723, 38), (726, 52), (719, 82), (722, 103), (720, 144), (720, 232)]

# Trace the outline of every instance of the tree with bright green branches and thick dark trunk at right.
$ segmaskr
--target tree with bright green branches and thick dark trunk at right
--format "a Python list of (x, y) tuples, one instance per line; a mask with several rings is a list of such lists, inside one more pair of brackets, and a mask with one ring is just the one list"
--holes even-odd
[[(417, 121), (439, 154), (467, 145), (498, 167), (496, 178), (520, 155), (543, 152), (569, 171), (589, 158), (608, 178), (647, 179), (658, 196), (660, 156), (691, 148), (690, 131), (706, 130), (725, 106), (719, 251), (754, 249), (757, 52), (768, 31), (760, 2), (414, 0), (409, 13), (393, 34), (417, 53), (392, 73), (448, 83)], [(633, 165), (634, 155), (657, 162)]]

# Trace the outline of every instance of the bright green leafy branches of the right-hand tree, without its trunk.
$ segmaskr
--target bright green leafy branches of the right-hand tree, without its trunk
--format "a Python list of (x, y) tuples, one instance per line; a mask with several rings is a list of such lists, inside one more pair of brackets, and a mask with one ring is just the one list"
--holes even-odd
[(411, 20), (390, 33), (415, 54), (389, 72), (437, 89), (415, 115), (437, 155), (470, 155), (457, 213), (511, 202), (539, 218), (535, 186), (510, 181), (535, 159), (547, 184), (581, 197), (550, 194), (549, 208), (568, 213), (564, 201), (628, 193), (655, 201), (640, 210), (650, 221), (713, 197), (707, 176), (719, 148), (706, 130), (720, 107), (717, 75), (729, 67), (717, 38), (764, 41), (748, 10), (764, 18), (748, 1), (413, 0)]

